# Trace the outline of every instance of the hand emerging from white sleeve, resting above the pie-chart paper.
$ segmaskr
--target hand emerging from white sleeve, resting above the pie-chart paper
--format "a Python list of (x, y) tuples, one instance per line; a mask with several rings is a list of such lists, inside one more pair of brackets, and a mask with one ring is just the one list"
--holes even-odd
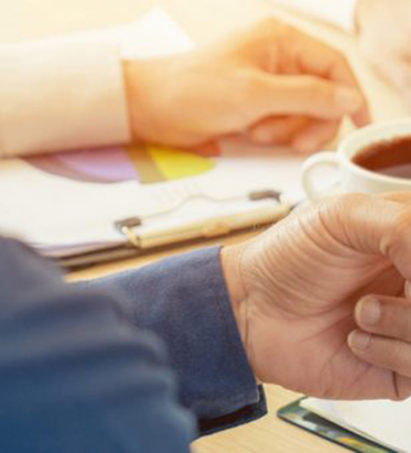
[(337, 51), (274, 19), (210, 47), (125, 65), (139, 140), (197, 147), (229, 134), (312, 152), (349, 115), (368, 122), (360, 87)]

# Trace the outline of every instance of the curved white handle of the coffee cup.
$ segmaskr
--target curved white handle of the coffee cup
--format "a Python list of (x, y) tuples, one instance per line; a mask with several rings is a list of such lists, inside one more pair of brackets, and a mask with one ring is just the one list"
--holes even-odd
[(317, 201), (326, 195), (326, 190), (318, 190), (315, 185), (314, 172), (318, 168), (333, 168), (339, 170), (338, 157), (335, 151), (325, 151), (309, 158), (303, 166), (302, 184), (311, 201)]

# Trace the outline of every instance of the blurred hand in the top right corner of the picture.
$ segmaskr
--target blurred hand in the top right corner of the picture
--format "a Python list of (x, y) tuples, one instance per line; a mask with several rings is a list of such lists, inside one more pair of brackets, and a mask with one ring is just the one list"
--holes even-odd
[(411, 1), (358, 0), (357, 34), (364, 54), (411, 110)]

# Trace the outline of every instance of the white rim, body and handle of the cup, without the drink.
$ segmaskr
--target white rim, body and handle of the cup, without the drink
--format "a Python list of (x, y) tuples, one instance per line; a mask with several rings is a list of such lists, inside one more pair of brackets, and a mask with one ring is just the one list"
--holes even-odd
[[(381, 122), (359, 129), (345, 139), (337, 152), (327, 151), (314, 154), (303, 166), (302, 183), (310, 199), (318, 199), (333, 192), (407, 192), (411, 191), (411, 179), (387, 176), (366, 170), (354, 162), (354, 158), (364, 149), (386, 140), (411, 137), (411, 119)], [(333, 187), (318, 187), (318, 169), (328, 169), (337, 173)], [(324, 176), (324, 173), (322, 173)], [(336, 190), (335, 190), (336, 187)]]

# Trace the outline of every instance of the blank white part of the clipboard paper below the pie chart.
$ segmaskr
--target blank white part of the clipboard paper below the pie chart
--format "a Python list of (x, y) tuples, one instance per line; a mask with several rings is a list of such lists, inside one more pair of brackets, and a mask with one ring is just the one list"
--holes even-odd
[[(23, 161), (8, 161), (0, 165), (0, 229), (48, 246), (117, 241), (122, 239), (113, 228), (118, 219), (147, 218), (179, 208), (193, 194), (218, 201), (253, 191), (286, 190), (299, 180), (300, 165), (298, 158), (217, 159), (215, 169), (202, 175), (142, 186), (134, 181), (71, 181)], [(207, 206), (212, 217), (215, 207), (209, 203)], [(205, 209), (201, 199), (182, 206), (175, 216), (195, 215), (198, 209)], [(169, 222), (173, 222), (172, 215)]]

